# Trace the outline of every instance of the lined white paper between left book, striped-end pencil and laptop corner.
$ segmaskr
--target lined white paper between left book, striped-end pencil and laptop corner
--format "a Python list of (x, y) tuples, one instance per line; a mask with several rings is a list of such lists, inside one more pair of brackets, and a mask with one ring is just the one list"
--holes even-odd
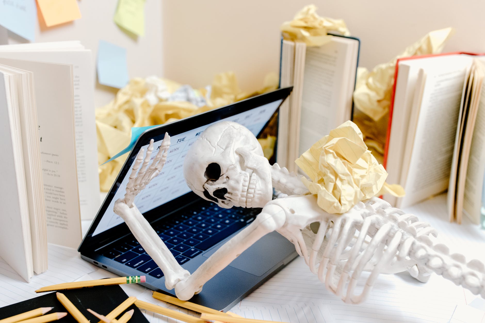
[(30, 283), (26, 283), (0, 258), (0, 307), (40, 296), (35, 290), (43, 286), (72, 282), (96, 270), (82, 260), (75, 249), (49, 244), (48, 257), (49, 269), (45, 273), (34, 275)]

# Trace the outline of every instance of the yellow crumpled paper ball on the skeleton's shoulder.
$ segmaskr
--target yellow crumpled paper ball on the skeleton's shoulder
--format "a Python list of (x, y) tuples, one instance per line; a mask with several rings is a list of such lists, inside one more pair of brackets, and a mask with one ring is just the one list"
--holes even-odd
[(320, 139), (296, 161), (310, 178), (302, 178), (317, 203), (328, 213), (344, 213), (359, 201), (380, 194), (404, 196), (399, 185), (388, 185), (388, 173), (372, 156), (362, 132), (347, 121)]

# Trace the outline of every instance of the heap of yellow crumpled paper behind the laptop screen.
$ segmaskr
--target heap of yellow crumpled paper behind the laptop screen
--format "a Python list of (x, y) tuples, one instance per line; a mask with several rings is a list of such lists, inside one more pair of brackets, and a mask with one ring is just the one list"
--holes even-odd
[[(251, 93), (243, 92), (238, 87), (233, 72), (221, 73), (215, 76), (210, 87), (198, 90), (190, 88), (188, 92), (193, 101), (171, 101), (171, 95), (182, 87), (177, 82), (157, 77), (135, 78), (120, 89), (109, 104), (96, 109), (98, 165), (129, 144), (131, 127), (160, 125), (275, 90), (278, 77), (275, 73), (268, 74), (262, 89)], [(199, 106), (196, 102), (205, 104)], [(128, 153), (99, 166), (101, 191), (111, 188), (127, 157)]]

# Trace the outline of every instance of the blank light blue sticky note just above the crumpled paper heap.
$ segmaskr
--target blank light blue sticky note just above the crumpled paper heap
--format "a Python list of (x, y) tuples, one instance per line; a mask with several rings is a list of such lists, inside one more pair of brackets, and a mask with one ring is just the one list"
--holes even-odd
[(100, 40), (97, 48), (97, 81), (122, 88), (129, 82), (126, 48)]

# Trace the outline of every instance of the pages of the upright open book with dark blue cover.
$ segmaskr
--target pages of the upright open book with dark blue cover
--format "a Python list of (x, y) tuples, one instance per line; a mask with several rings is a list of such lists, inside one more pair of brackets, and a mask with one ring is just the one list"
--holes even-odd
[(280, 107), (276, 161), (296, 171), (294, 161), (331, 129), (352, 119), (360, 41), (333, 35), (321, 47), (282, 41), (280, 86), (293, 85)]

